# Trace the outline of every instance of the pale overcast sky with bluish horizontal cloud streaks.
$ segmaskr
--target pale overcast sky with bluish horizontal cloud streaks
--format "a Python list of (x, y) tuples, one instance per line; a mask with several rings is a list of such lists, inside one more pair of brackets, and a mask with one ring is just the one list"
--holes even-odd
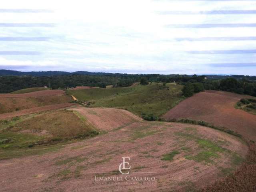
[(256, 75), (256, 0), (6, 0), (0, 69)]

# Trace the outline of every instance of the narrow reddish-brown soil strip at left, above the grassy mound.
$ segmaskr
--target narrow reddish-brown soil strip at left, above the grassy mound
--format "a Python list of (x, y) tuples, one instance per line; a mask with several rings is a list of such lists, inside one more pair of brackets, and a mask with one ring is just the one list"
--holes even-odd
[(70, 107), (72, 105), (74, 105), (74, 104), (62, 103), (62, 104), (48, 105), (48, 106), (43, 106), (43, 107), (34, 107), (34, 108), (24, 109), (24, 110), (10, 112), (10, 113), (4, 113), (4, 114), (0, 114), (0, 120), (12, 118), (12, 117), (16, 117), (16, 116), (21, 116), (21, 115), (26, 115), (26, 114), (32, 114), (32, 113), (36, 113), (36, 112), (66, 108), (66, 107)]

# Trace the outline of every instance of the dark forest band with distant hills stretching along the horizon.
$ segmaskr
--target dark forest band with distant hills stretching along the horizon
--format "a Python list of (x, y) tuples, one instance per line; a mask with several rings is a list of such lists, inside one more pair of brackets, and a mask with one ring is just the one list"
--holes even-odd
[[(24, 75), (25, 73), (25, 75)], [(7, 75), (9, 74), (9, 75)], [(76, 86), (98, 86), (105, 88), (126, 87), (134, 82), (142, 85), (148, 82), (176, 82), (184, 85), (185, 96), (203, 90), (223, 90), (238, 94), (256, 96), (256, 76), (219, 76), (219, 75), (160, 75), (160, 74), (114, 74), (94, 72), (18, 72), (0, 70), (0, 93), (9, 93), (31, 87), (50, 87), (52, 89), (65, 89)]]

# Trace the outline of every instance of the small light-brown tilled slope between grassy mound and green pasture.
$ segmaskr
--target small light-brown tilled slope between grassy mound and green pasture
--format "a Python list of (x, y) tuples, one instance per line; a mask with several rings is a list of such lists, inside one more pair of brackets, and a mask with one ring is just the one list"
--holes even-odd
[(142, 122), (138, 116), (115, 108), (72, 108), (82, 114), (86, 120), (99, 130), (110, 131), (132, 122)]

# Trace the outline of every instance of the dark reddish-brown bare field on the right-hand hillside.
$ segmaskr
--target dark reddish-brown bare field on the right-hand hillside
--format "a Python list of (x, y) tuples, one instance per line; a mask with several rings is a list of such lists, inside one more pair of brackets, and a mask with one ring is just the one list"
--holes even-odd
[(172, 108), (164, 118), (203, 120), (238, 132), (249, 140), (256, 140), (256, 116), (234, 108), (236, 102), (245, 97), (230, 92), (200, 92)]

